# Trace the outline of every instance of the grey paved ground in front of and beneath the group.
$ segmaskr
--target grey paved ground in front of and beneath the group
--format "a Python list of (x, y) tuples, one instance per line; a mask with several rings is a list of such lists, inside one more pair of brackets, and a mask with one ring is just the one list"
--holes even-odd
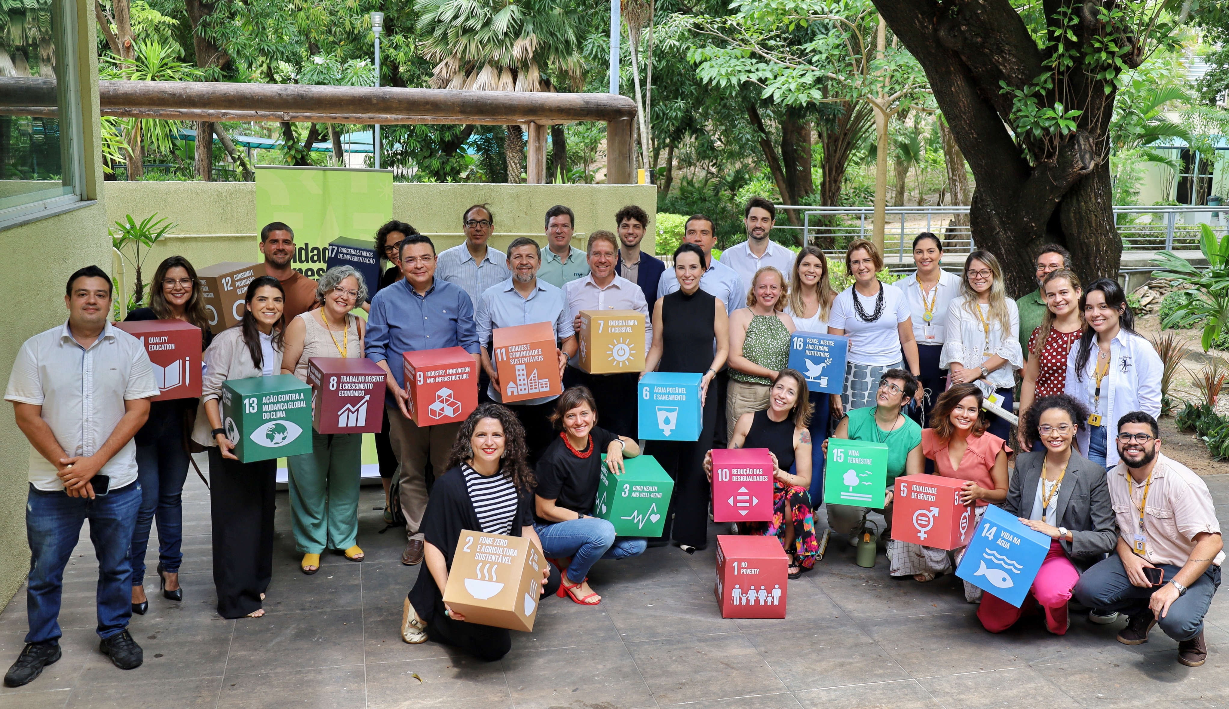
[[(1229, 474), (1206, 478), (1229, 522)], [(514, 633), (500, 662), (479, 664), (397, 637), (401, 601), (418, 569), (401, 564), (402, 539), (377, 535), (379, 488), (365, 488), (360, 542), (367, 560), (324, 557), (315, 576), (296, 569), (289, 503), (278, 509), (275, 571), (262, 619), (214, 612), (208, 494), (188, 480), (182, 605), (150, 589), (133, 635), (145, 665), (114, 668), (93, 633), (96, 565), (87, 538), (65, 576), (64, 657), (34, 683), (0, 689), (0, 707), (575, 707), (946, 708), (1224, 707), (1229, 703), (1229, 600), (1208, 618), (1208, 664), (1187, 668), (1159, 632), (1129, 648), (1122, 622), (1075, 618), (1063, 637), (1040, 618), (1003, 635), (981, 629), (951, 576), (922, 585), (853, 563), (832, 544), (815, 571), (791, 581), (784, 621), (726, 621), (713, 598), (713, 548), (687, 557), (649, 549), (592, 575), (596, 608), (552, 598), (535, 633)], [(718, 528), (710, 527), (715, 535)], [(150, 568), (156, 563), (156, 547)], [(146, 579), (149, 582), (149, 579)], [(0, 616), (0, 664), (22, 646), (25, 593)]]

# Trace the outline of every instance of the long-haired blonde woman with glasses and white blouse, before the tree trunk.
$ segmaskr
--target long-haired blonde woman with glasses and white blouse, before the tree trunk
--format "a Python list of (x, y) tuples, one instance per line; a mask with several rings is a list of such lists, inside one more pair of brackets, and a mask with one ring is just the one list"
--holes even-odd
[[(983, 248), (975, 251), (965, 259), (960, 296), (948, 307), (939, 366), (951, 370), (954, 385), (984, 380), (994, 387), (992, 401), (1011, 410), (1015, 370), (1024, 367), (1019, 332), (1020, 311), (1007, 297), (998, 259)], [(1011, 424), (991, 418), (987, 430), (1009, 440)]]

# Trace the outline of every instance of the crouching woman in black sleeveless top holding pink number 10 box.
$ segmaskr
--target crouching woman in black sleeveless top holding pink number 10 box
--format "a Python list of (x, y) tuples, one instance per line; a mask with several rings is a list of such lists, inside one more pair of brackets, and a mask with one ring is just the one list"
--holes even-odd
[[(774, 536), (789, 554), (789, 578), (815, 566), (820, 544), (811, 515), (811, 402), (806, 380), (798, 370), (782, 370), (768, 390), (768, 408), (742, 414), (730, 434), (731, 449), (768, 449), (773, 461), (771, 522), (740, 522), (745, 535)], [(794, 467), (798, 474), (789, 472)], [(704, 456), (704, 472), (713, 482), (713, 451)]]

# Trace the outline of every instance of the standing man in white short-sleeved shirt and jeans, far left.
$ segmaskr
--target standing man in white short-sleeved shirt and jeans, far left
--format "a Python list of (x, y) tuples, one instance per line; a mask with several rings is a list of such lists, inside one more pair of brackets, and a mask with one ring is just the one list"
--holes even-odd
[(60, 659), (64, 568), (90, 520), (98, 559), (100, 649), (120, 670), (141, 665), (128, 633), (132, 617), (129, 547), (141, 504), (133, 436), (159, 394), (145, 347), (107, 322), (111, 278), (96, 265), (69, 278), (69, 318), (26, 340), (9, 376), (5, 399), (29, 453), (26, 536), (26, 648), (5, 686), (28, 684)]

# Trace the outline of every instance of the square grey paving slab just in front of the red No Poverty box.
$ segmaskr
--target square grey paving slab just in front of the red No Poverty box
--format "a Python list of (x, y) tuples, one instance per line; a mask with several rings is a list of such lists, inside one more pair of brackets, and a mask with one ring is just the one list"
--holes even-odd
[(742, 633), (628, 643), (658, 704), (774, 694), (785, 686)]

